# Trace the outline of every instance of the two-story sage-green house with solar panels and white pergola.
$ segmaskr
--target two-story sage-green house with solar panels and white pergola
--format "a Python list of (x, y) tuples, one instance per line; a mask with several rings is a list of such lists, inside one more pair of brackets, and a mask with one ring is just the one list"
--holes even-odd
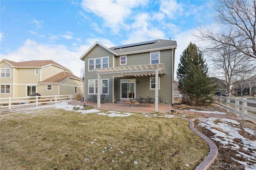
[[(97, 94), (99, 99), (103, 93), (111, 102), (150, 96), (155, 99), (156, 111), (158, 103), (173, 104), (176, 47), (176, 41), (172, 40), (111, 48), (94, 43), (80, 57), (85, 66), (84, 96)], [(97, 106), (100, 107), (99, 100)]]

